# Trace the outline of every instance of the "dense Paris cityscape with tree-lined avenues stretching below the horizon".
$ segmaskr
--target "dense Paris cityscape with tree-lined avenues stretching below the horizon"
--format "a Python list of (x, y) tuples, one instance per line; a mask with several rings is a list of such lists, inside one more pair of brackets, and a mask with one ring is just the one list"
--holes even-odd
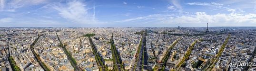
[[(2, 27), (2, 71), (255, 71), (256, 27)], [(232, 65), (245, 62), (244, 65)]]

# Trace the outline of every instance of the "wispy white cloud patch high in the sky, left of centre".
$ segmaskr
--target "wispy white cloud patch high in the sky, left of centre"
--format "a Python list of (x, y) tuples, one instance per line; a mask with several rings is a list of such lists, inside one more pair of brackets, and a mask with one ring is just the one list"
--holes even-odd
[[(93, 22), (92, 20), (94, 20), (94, 14), (89, 14), (89, 8), (86, 8), (86, 4), (80, 1), (70, 1), (67, 3), (67, 5), (60, 4), (59, 6), (54, 6), (53, 8), (59, 11), (59, 15), (61, 17), (69, 19), (72, 22), (89, 24)], [(92, 9), (95, 9), (95, 7)]]

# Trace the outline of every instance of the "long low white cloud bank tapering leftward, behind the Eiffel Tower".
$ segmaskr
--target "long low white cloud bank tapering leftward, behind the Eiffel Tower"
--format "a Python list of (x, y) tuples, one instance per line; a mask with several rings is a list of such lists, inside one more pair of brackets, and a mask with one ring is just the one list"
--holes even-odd
[[(239, 19), (239, 20), (238, 20)], [(175, 16), (167, 14), (153, 14), (138, 18), (130, 18), (117, 22), (148, 22), (158, 24), (186, 24), (187, 26), (200, 26), (198, 24), (209, 23), (211, 26), (256, 26), (256, 14), (217, 13), (208, 15), (205, 12)]]

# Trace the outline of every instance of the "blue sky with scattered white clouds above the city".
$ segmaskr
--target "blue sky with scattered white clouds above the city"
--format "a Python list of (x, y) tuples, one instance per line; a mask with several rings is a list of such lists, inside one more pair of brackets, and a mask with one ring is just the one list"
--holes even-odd
[(0, 27), (256, 27), (256, 0), (0, 0)]

